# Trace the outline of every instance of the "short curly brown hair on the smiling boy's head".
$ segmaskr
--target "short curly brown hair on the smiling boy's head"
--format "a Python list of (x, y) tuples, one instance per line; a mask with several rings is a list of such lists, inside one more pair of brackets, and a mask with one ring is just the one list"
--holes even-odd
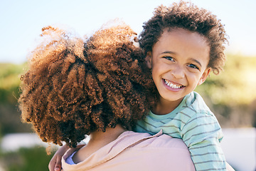
[(213, 73), (218, 74), (225, 64), (225, 46), (228, 43), (223, 24), (206, 9), (180, 1), (172, 6), (159, 6), (154, 11), (149, 21), (144, 23), (143, 31), (139, 36), (139, 45), (144, 53), (152, 51), (153, 46), (164, 30), (171, 31), (173, 28), (183, 28), (201, 34), (210, 46), (210, 61), (208, 67)]

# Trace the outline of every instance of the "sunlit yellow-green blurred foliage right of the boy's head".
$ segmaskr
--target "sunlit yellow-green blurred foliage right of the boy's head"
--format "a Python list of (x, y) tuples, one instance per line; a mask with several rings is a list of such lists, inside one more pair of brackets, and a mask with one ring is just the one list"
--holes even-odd
[(256, 99), (256, 58), (228, 55), (225, 70), (196, 88), (214, 104), (248, 105)]

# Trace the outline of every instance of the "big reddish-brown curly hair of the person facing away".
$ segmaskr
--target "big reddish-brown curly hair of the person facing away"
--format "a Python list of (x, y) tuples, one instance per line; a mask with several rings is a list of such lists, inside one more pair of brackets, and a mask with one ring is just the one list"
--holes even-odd
[(18, 103), (44, 142), (75, 147), (95, 130), (131, 129), (144, 118), (154, 83), (129, 26), (101, 29), (86, 41), (60, 28), (42, 31)]

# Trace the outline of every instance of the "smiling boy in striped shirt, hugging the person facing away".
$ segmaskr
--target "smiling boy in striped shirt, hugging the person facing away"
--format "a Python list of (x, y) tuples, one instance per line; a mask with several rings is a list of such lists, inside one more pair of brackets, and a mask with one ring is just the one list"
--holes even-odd
[(135, 132), (159, 130), (181, 138), (196, 170), (226, 170), (218, 120), (193, 90), (225, 63), (225, 30), (205, 9), (181, 1), (159, 6), (144, 24), (139, 44), (158, 90), (158, 101)]

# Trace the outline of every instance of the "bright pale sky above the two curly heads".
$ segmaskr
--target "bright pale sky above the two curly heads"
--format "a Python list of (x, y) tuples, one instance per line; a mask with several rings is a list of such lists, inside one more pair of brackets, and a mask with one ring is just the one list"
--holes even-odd
[[(140, 33), (160, 4), (174, 0), (0, 0), (0, 63), (21, 63), (41, 28), (64, 25), (80, 36), (119, 18)], [(176, 1), (176, 0), (175, 0)], [(256, 0), (191, 0), (221, 19), (230, 36), (227, 52), (256, 56)]]

